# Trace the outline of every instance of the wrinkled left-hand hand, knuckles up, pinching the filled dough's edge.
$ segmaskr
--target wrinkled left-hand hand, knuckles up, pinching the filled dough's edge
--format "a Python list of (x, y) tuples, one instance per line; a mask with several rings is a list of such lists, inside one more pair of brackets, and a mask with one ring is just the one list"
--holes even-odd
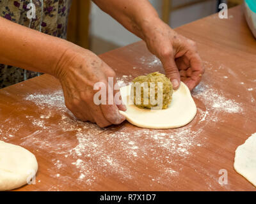
[[(63, 54), (56, 76), (58, 76), (65, 97), (65, 105), (83, 121), (96, 122), (101, 128), (111, 124), (120, 124), (125, 117), (118, 110), (126, 110), (124, 105), (96, 105), (93, 96), (99, 90), (93, 90), (97, 82), (103, 82), (110, 94), (118, 91), (109, 89), (108, 77), (114, 78), (115, 71), (89, 50), (74, 46)], [(115, 85), (115, 84), (114, 84)]]

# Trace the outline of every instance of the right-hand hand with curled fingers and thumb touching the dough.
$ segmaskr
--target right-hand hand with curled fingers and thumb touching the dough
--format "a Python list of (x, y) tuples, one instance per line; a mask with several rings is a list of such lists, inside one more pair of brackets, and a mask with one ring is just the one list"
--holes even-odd
[(161, 21), (154, 24), (145, 36), (148, 50), (161, 60), (174, 89), (179, 88), (180, 80), (188, 85), (189, 90), (199, 84), (204, 68), (194, 41), (177, 34)]

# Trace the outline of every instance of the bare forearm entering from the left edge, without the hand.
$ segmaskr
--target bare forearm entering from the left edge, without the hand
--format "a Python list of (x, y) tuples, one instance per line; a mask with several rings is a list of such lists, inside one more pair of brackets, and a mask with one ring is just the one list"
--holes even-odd
[(0, 17), (0, 63), (56, 75), (68, 43)]

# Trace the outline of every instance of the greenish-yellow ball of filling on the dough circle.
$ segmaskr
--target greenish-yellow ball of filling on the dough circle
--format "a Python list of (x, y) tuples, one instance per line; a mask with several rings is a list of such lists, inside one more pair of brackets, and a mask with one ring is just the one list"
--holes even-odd
[(136, 77), (132, 82), (131, 94), (138, 108), (166, 109), (172, 102), (172, 82), (165, 75), (154, 72)]

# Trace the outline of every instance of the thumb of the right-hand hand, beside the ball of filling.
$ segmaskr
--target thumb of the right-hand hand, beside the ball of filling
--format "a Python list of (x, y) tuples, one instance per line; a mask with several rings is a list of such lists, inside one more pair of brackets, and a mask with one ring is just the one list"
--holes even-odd
[(173, 89), (178, 89), (180, 86), (180, 73), (175, 63), (174, 57), (167, 57), (161, 61), (163, 63), (165, 75), (167, 78), (170, 78)]

